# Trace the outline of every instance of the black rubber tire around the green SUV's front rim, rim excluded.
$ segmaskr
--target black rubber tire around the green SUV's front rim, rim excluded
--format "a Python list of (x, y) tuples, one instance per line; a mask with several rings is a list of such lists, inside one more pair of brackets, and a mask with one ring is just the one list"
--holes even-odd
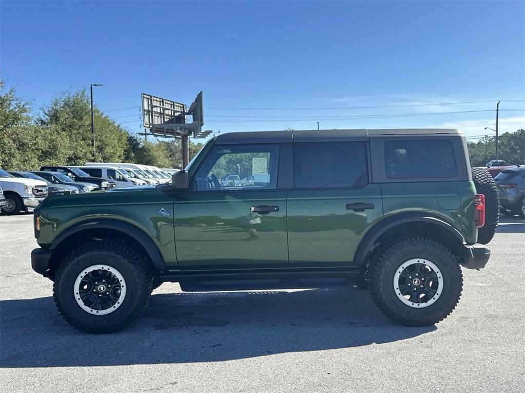
[[(122, 304), (106, 315), (83, 310), (75, 299), (75, 281), (82, 270), (104, 264), (117, 269), (125, 280)], [(93, 241), (75, 249), (59, 264), (53, 285), (55, 304), (74, 328), (87, 333), (113, 333), (131, 324), (148, 305), (151, 275), (143, 259), (123, 242)]]

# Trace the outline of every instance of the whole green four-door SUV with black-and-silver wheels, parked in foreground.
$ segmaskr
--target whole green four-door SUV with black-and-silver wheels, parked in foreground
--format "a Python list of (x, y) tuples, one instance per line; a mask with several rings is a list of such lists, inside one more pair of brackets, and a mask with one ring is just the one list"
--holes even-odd
[[(235, 182), (219, 179), (235, 176)], [(476, 193), (478, 192), (478, 193)], [(496, 210), (495, 210), (496, 209)], [(75, 328), (118, 331), (162, 282), (183, 291), (360, 286), (391, 319), (437, 323), (480, 269), (497, 191), (450, 129), (286, 130), (210, 139), (172, 182), (59, 195), (31, 264)]]

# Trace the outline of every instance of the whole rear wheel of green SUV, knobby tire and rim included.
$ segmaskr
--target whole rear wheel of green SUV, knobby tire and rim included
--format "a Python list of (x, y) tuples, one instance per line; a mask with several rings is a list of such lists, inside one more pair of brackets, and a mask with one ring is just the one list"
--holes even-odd
[(427, 238), (410, 238), (388, 247), (373, 261), (367, 282), (377, 307), (388, 318), (409, 326), (445, 319), (463, 288), (454, 255)]

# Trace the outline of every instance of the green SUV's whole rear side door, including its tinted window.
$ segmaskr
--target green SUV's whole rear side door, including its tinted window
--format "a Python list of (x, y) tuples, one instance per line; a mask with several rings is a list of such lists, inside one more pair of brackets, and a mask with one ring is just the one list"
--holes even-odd
[(290, 265), (352, 266), (360, 239), (383, 214), (380, 185), (369, 181), (366, 142), (294, 142), (293, 160)]

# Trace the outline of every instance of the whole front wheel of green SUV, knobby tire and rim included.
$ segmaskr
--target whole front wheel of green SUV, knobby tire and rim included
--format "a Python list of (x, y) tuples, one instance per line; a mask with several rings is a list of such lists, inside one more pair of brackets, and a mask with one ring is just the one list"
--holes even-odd
[(88, 333), (111, 333), (132, 323), (151, 295), (142, 258), (121, 242), (80, 246), (60, 263), (53, 285), (64, 319)]

